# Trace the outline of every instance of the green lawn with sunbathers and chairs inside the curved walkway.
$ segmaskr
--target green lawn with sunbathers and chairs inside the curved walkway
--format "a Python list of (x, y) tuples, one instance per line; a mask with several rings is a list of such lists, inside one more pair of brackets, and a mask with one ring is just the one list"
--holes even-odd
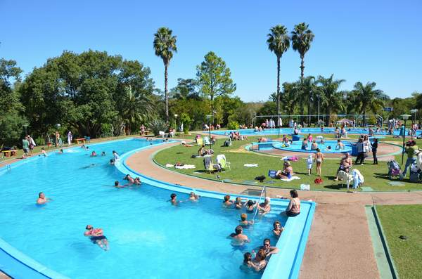
[[(317, 136), (317, 135), (314, 135)], [(327, 135), (325, 135), (328, 137)], [(276, 136), (267, 136), (269, 138), (275, 138)], [(191, 136), (193, 139), (193, 136)], [(390, 140), (390, 138), (388, 138)], [(265, 175), (267, 176), (269, 169), (282, 169), (283, 161), (280, 157), (273, 157), (267, 155), (260, 155), (246, 151), (243, 147), (252, 141), (256, 141), (257, 137), (249, 137), (248, 141), (234, 141), (231, 147), (222, 147), (223, 140), (219, 139), (217, 145), (212, 148), (215, 150), (215, 155), (225, 154), (229, 162), (231, 162), (231, 170), (224, 171), (221, 174), (207, 174), (203, 171), (203, 159), (202, 158), (191, 158), (191, 155), (198, 153), (198, 146), (184, 147), (177, 145), (172, 148), (161, 150), (154, 157), (155, 162), (164, 166), (165, 164), (175, 164), (176, 162), (182, 162), (184, 164), (195, 164), (196, 169), (174, 169), (184, 174), (190, 174), (206, 179), (217, 179), (217, 175), (220, 177), (217, 180), (229, 179), (236, 183), (254, 183), (256, 176)], [(422, 143), (421, 141), (419, 143)], [(397, 159), (400, 155), (397, 156)], [(215, 160), (215, 159), (214, 159)], [(406, 160), (406, 158), (405, 158)], [(335, 178), (336, 171), (338, 169), (338, 159), (325, 160), (322, 165), (322, 179), (324, 183), (315, 184), (316, 179), (316, 168), (314, 166), (313, 173), (311, 176), (307, 175), (307, 167), (304, 159), (298, 162), (292, 162), (293, 170), (301, 178), (300, 180), (285, 182), (278, 179), (266, 179), (266, 183), (270, 186), (283, 187), (283, 188), (300, 188), (301, 183), (310, 184), (312, 190), (345, 190), (340, 188), (340, 184), (333, 181)], [(259, 164), (260, 167), (243, 167), (243, 164)], [(356, 169), (362, 172), (365, 177), (366, 187), (371, 187), (373, 190), (418, 190), (422, 189), (420, 183), (409, 183), (404, 180), (404, 186), (391, 186), (388, 184), (388, 167), (385, 162), (380, 162), (378, 165), (373, 165), (372, 160), (367, 160), (366, 164), (357, 166)]]

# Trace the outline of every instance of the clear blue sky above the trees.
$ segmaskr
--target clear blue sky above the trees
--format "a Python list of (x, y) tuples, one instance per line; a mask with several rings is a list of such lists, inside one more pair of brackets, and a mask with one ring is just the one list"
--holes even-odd
[[(236, 95), (267, 100), (276, 91), (276, 56), (266, 39), (273, 25), (289, 31), (307, 22), (315, 39), (305, 57), (305, 75), (376, 82), (390, 97), (422, 91), (422, 1), (10, 1), (0, 0), (0, 57), (25, 74), (63, 50), (87, 49), (137, 59), (164, 88), (162, 60), (153, 34), (166, 26), (177, 35), (169, 86), (196, 75), (208, 51), (230, 67)], [(281, 60), (281, 82), (300, 75), (292, 48)]]

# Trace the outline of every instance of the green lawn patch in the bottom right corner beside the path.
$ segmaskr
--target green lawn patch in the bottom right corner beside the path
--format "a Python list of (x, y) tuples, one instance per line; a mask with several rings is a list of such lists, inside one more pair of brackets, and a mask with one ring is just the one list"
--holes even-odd
[(422, 205), (377, 205), (376, 210), (399, 278), (421, 278)]

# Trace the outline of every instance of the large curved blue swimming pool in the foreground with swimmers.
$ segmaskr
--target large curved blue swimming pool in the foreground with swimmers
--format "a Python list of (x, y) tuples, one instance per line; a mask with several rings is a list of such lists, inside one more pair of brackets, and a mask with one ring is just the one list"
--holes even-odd
[[(166, 202), (172, 191), (181, 192), (179, 200), (186, 200), (191, 189), (143, 176), (140, 188), (111, 187), (115, 180), (122, 182), (121, 171), (131, 172), (124, 164), (136, 152), (131, 150), (149, 145), (139, 139), (89, 145), (90, 151), (72, 148), (62, 155), (21, 161), (11, 171), (0, 170), (0, 238), (70, 278), (259, 278), (262, 274), (239, 269), (243, 251), (234, 249), (226, 236), (237, 226), (240, 212), (223, 209), (222, 194), (198, 191), (203, 196), (200, 202), (172, 207)], [(89, 157), (91, 150), (108, 156)], [(117, 168), (108, 164), (112, 150), (126, 153)], [(53, 201), (35, 206), (39, 191)], [(275, 219), (286, 226), (277, 242), (282, 250), (271, 257), (263, 278), (272, 278), (280, 268), (286, 274), (279, 278), (298, 275), (314, 203), (303, 202), (302, 214), (287, 220), (278, 214), (286, 205), (274, 201), (271, 213), (245, 231), (252, 240), (246, 249), (251, 250), (266, 236), (276, 243), (271, 236)], [(83, 236), (88, 223), (104, 229), (110, 251), (103, 252)], [(0, 269), (25, 278), (3, 262)], [(60, 278), (47, 274), (46, 278)]]

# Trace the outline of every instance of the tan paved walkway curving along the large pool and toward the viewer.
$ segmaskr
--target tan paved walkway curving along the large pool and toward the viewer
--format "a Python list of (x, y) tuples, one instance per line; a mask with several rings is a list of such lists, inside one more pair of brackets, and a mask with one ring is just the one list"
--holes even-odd
[[(170, 143), (169, 145), (177, 144), (179, 143)], [(234, 194), (248, 190), (261, 190), (257, 186), (208, 181), (159, 167), (152, 158), (154, 153), (161, 148), (162, 145), (142, 150), (129, 157), (127, 165), (154, 179), (191, 188)], [(288, 190), (268, 188), (267, 195), (286, 197)], [(380, 278), (364, 206), (422, 204), (422, 192), (299, 191), (299, 195), (302, 200), (313, 200), (317, 203), (314, 222), (300, 269), (300, 278), (313, 279)]]

